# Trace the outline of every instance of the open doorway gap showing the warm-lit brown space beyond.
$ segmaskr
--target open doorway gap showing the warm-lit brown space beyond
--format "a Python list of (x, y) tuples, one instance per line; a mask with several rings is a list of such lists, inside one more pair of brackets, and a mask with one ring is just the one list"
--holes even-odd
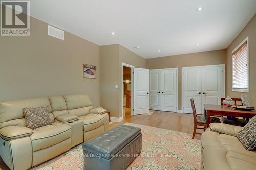
[(123, 66), (122, 98), (123, 118), (131, 117), (131, 68)]

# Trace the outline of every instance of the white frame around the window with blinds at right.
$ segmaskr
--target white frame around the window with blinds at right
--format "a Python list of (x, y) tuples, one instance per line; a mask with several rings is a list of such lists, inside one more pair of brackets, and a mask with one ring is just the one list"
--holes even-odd
[(236, 92), (244, 92), (244, 93), (249, 93), (249, 81), (250, 81), (250, 77), (249, 77), (249, 37), (246, 37), (236, 48), (234, 48), (234, 50), (232, 51), (231, 54), (233, 54), (236, 50), (238, 50), (238, 48), (240, 48), (241, 45), (243, 45), (245, 43), (245, 41), (247, 41), (247, 67), (248, 67), (248, 71), (247, 71), (247, 76), (248, 76), (248, 88), (247, 89), (233, 89), (233, 55), (232, 55), (232, 91), (236, 91)]

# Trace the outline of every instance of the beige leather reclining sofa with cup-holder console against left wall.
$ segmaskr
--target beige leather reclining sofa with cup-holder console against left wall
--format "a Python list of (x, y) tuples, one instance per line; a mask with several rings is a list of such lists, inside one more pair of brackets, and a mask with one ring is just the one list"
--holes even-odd
[[(23, 108), (48, 106), (52, 125), (25, 126)], [(108, 130), (108, 114), (88, 95), (0, 102), (0, 156), (10, 169), (28, 169)]]

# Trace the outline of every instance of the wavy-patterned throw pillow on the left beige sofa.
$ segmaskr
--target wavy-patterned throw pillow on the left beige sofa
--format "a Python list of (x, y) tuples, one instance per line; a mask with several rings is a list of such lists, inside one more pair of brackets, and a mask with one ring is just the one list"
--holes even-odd
[(27, 128), (36, 129), (42, 126), (51, 125), (48, 106), (29, 107), (23, 109)]

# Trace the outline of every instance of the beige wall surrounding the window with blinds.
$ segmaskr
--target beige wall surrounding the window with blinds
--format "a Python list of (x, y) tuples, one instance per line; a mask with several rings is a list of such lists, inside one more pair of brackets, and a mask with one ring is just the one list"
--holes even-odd
[(226, 94), (231, 98), (241, 98), (240, 92), (232, 91), (232, 51), (236, 48), (246, 37), (249, 37), (249, 94), (250, 103), (256, 107), (256, 15), (249, 21), (247, 26), (237, 36), (236, 39), (227, 48), (227, 71), (226, 71)]

